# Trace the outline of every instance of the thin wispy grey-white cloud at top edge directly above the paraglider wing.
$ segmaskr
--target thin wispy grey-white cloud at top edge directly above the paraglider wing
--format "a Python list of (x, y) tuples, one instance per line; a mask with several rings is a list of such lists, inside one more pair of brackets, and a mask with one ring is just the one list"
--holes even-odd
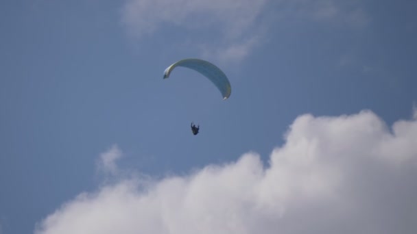
[[(267, 0), (128, 0), (123, 6), (122, 21), (136, 38), (166, 28), (179, 27), (192, 31), (193, 45), (202, 49), (204, 55), (215, 56), (220, 60), (241, 60), (256, 44), (255, 38), (261, 34), (257, 29), (260, 27), (257, 18), (266, 2)], [(213, 49), (229, 52), (226, 55), (206, 53)]]

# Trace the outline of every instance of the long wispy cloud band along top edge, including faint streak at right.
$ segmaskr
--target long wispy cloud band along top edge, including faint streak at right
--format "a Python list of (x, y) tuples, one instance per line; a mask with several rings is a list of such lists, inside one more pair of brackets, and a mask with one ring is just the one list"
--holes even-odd
[(353, 27), (370, 21), (359, 1), (341, 0), (126, 0), (121, 12), (134, 38), (164, 36), (169, 44), (180, 34), (187, 48), (221, 62), (243, 60), (276, 25), (294, 19)]

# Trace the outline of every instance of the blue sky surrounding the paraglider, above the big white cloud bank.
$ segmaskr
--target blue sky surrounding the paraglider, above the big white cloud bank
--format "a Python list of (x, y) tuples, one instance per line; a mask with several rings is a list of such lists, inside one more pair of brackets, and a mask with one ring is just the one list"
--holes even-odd
[[(119, 170), (162, 178), (248, 152), (266, 165), (302, 114), (412, 118), (416, 11), (385, 0), (1, 1), (0, 233), (32, 233), (97, 191), (112, 146)], [(222, 68), (230, 99), (191, 70), (162, 79), (187, 57)]]

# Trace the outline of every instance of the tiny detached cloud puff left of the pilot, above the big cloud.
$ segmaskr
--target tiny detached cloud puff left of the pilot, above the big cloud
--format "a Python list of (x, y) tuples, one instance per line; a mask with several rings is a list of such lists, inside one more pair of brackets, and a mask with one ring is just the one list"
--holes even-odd
[(97, 168), (106, 174), (116, 175), (119, 172), (116, 161), (121, 157), (122, 152), (115, 144), (108, 151), (100, 155)]

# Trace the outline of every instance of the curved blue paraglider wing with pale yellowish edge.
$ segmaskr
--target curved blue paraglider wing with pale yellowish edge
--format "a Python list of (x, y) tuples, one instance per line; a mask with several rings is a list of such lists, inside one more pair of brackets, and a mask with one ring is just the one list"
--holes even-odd
[(230, 96), (232, 88), (230, 86), (230, 82), (226, 75), (223, 73), (220, 68), (211, 64), (210, 62), (199, 60), (199, 59), (186, 59), (180, 60), (171, 66), (165, 69), (164, 79), (167, 79), (171, 74), (171, 71), (174, 70), (177, 66), (183, 66), (185, 68), (190, 68), (192, 70), (197, 71), (198, 73), (204, 75), (210, 79), (211, 82), (215, 84), (217, 89), (222, 93), (223, 99), (226, 100)]

